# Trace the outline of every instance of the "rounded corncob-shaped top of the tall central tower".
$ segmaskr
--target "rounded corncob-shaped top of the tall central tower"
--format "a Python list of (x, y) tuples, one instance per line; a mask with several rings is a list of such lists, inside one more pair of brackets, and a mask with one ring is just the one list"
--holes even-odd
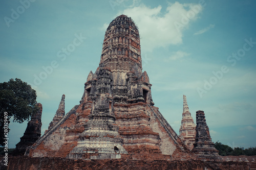
[(100, 63), (112, 71), (130, 71), (137, 63), (141, 66), (138, 28), (131, 17), (120, 15), (106, 29)]

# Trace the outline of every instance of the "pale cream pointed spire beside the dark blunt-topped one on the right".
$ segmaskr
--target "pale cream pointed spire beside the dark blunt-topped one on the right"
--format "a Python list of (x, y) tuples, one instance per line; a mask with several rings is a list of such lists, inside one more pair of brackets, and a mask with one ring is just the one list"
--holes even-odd
[(189, 150), (194, 148), (196, 138), (196, 125), (189, 112), (186, 96), (183, 95), (183, 113), (180, 126), (180, 138)]

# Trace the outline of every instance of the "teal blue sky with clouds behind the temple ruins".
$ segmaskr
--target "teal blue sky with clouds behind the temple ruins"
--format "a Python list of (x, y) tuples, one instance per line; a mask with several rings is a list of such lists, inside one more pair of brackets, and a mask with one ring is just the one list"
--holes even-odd
[[(0, 82), (19, 78), (37, 91), (42, 134), (62, 94), (66, 113), (79, 104), (106, 28), (125, 14), (139, 28), (155, 106), (175, 131), (185, 94), (195, 122), (205, 112), (212, 141), (256, 146), (256, 1), (3, 0), (0, 8)], [(9, 148), (26, 127), (10, 124)]]

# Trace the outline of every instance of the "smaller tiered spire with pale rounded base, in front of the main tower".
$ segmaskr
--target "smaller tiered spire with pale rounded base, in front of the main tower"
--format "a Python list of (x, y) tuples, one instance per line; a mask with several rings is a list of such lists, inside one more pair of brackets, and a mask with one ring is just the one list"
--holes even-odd
[(68, 155), (71, 159), (117, 159), (121, 158), (120, 154), (127, 154), (115, 123), (112, 72), (101, 63), (96, 76), (89, 121), (79, 136), (77, 146)]

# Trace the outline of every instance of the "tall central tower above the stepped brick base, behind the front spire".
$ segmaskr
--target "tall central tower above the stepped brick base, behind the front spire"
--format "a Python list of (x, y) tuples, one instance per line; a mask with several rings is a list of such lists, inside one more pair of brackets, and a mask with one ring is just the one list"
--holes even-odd
[[(115, 103), (136, 103), (147, 99), (148, 103), (152, 102), (151, 96), (147, 96), (150, 84), (144, 88), (143, 94), (139, 31), (130, 17), (120, 15), (106, 29), (100, 64), (112, 72)], [(146, 72), (143, 76), (147, 77)], [(134, 84), (134, 81), (138, 83)]]

